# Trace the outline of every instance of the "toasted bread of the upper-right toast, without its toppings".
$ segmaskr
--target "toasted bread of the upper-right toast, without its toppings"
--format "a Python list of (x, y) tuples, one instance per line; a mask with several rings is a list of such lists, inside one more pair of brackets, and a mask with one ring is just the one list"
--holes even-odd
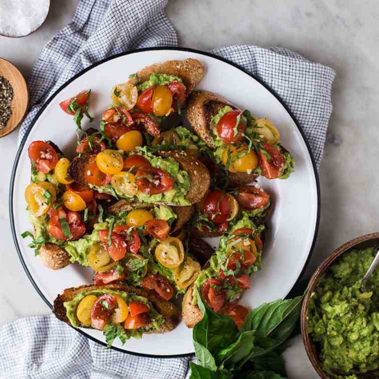
[[(232, 109), (237, 109), (234, 105), (228, 103), (223, 97), (212, 92), (194, 91), (188, 98), (185, 116), (188, 121), (190, 121), (196, 133), (212, 149), (216, 146), (209, 133), (211, 119), (226, 105), (229, 105)], [(257, 177), (256, 174), (248, 174), (246, 172), (229, 172), (228, 176), (232, 185), (248, 184)]]

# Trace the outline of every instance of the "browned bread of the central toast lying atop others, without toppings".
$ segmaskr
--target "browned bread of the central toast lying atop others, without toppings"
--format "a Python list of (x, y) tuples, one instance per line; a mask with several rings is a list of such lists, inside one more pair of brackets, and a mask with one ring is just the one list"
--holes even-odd
[[(191, 204), (199, 202), (208, 191), (211, 183), (208, 168), (195, 156), (187, 154), (185, 151), (162, 150), (159, 151), (159, 155), (162, 157), (174, 158), (179, 163), (180, 168), (184, 171), (187, 171), (188, 175), (190, 176), (190, 189), (185, 195), (185, 200)], [(87, 185), (87, 182), (85, 180), (85, 173), (87, 172), (89, 165), (95, 162), (95, 160), (96, 154), (91, 152), (84, 152), (80, 156), (76, 156), (71, 161), (70, 167), (68, 169), (68, 174), (80, 184)], [(130, 204), (133, 206), (134, 203), (135, 201), (130, 201)], [(137, 202), (136, 204), (138, 205), (140, 203)], [(177, 205), (166, 204), (164, 202), (157, 202), (156, 204), (171, 206)]]

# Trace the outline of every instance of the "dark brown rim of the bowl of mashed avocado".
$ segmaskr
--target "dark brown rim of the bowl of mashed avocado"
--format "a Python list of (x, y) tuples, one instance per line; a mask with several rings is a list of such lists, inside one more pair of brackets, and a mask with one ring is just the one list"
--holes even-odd
[(317, 371), (317, 373), (322, 379), (329, 379), (329, 376), (324, 372), (317, 357), (315, 356), (312, 350), (310, 338), (307, 332), (307, 313), (308, 313), (308, 304), (309, 304), (310, 296), (320, 276), (339, 256), (341, 256), (343, 253), (349, 250), (354, 249), (357, 245), (360, 245), (363, 242), (374, 240), (374, 239), (379, 239), (379, 233), (366, 234), (364, 236), (361, 236), (349, 242), (346, 242), (345, 244), (343, 244), (342, 246), (334, 250), (333, 253), (328, 258), (326, 258), (320, 264), (320, 266), (318, 266), (318, 268), (313, 273), (312, 277), (310, 278), (308, 282), (308, 285), (306, 288), (306, 294), (304, 297), (303, 305), (301, 307), (301, 314), (300, 314), (301, 337), (302, 337), (303, 344), (305, 347), (305, 351), (308, 355), (308, 358), (311, 361), (312, 366), (314, 367), (314, 369)]

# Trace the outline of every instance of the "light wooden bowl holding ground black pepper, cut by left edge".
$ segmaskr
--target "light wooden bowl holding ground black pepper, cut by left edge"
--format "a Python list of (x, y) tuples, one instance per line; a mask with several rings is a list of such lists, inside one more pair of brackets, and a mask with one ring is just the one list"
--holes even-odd
[(11, 133), (24, 120), (29, 105), (29, 92), (21, 72), (9, 61), (0, 58), (0, 75), (9, 80), (13, 87), (12, 115), (5, 128), (0, 129), (0, 137)]

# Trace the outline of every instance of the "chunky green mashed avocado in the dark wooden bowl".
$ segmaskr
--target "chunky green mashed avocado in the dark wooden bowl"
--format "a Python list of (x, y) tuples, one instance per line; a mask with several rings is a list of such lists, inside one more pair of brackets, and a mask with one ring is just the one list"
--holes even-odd
[[(351, 374), (379, 368), (379, 268), (366, 291), (360, 281), (376, 249), (343, 254), (323, 274), (309, 300), (308, 333), (318, 343), (320, 360), (331, 377), (333, 370)], [(376, 377), (376, 376), (375, 376)]]

